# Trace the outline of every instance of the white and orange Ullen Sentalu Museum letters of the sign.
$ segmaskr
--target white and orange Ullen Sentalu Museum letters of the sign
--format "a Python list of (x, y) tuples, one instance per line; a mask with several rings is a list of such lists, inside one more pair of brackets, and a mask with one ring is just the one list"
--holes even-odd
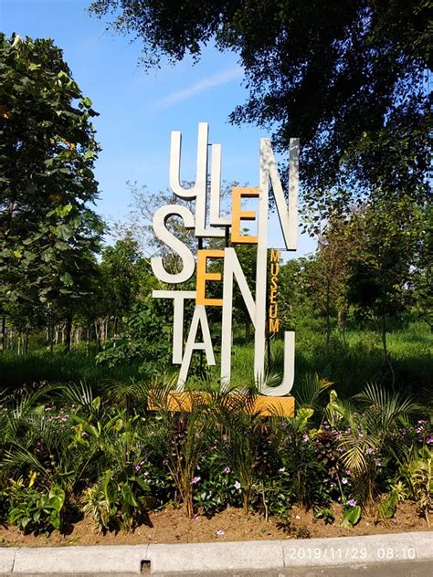
[[(208, 144), (208, 125), (198, 124), (197, 159), (195, 184), (184, 188), (180, 179), (182, 135), (172, 132), (170, 150), (170, 187), (176, 196), (187, 200), (195, 200), (195, 215), (183, 205), (166, 205), (159, 208), (153, 216), (155, 235), (170, 247), (182, 261), (180, 272), (172, 274), (164, 268), (161, 257), (152, 258), (153, 274), (161, 281), (169, 284), (179, 284), (189, 280), (196, 273), (195, 290), (153, 290), (153, 298), (173, 299), (173, 356), (174, 364), (180, 365), (176, 390), (184, 390), (188, 376), (189, 365), (193, 351), (205, 351), (208, 365), (215, 365), (215, 355), (212, 338), (207, 322), (206, 307), (222, 307), (221, 331), (221, 383), (230, 382), (231, 344), (232, 344), (232, 312), (233, 284), (238, 288), (245, 301), (248, 315), (255, 329), (254, 337), (254, 379), (259, 392), (264, 395), (284, 396), (290, 393), (294, 380), (294, 347), (293, 331), (284, 333), (284, 372), (280, 385), (269, 387), (265, 379), (265, 346), (266, 331), (278, 332), (280, 319), (276, 301), (278, 275), (280, 270), (280, 250), (270, 251), (270, 286), (268, 289), (268, 222), (269, 193), (274, 196), (277, 214), (286, 250), (296, 250), (298, 231), (298, 188), (299, 188), (299, 139), (290, 139), (290, 169), (288, 202), (284, 195), (277, 163), (270, 146), (269, 139), (260, 139), (259, 152), (259, 186), (251, 188), (235, 187), (232, 190), (231, 217), (221, 215), (221, 145)], [(210, 149), (210, 186), (207, 187), (207, 166)], [(209, 196), (209, 197), (208, 197)], [(257, 211), (243, 211), (243, 198), (257, 198)], [(224, 250), (199, 249), (197, 258), (189, 247), (186, 247), (167, 228), (166, 221), (172, 216), (180, 217), (187, 229), (195, 231), (198, 238), (227, 237), (230, 231), (232, 245), (257, 245), (256, 265), (256, 295), (252, 297), (242, 267), (234, 247)], [(207, 216), (208, 215), (208, 216)], [(257, 221), (257, 236), (241, 234), (242, 220)], [(221, 258), (224, 261), (223, 274), (210, 272), (207, 267), (209, 258)], [(206, 299), (206, 283), (222, 282), (222, 299)], [(185, 299), (195, 299), (195, 309), (191, 325), (186, 335), (184, 331)], [(198, 329), (202, 341), (196, 341)], [(185, 341), (185, 346), (184, 346)]]

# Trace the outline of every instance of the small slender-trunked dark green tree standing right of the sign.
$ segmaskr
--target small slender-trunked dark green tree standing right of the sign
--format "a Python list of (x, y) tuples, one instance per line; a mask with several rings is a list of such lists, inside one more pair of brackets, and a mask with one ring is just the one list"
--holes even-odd
[(416, 273), (425, 217), (426, 213), (415, 202), (403, 196), (395, 203), (364, 206), (346, 228), (346, 235), (356, 238), (348, 259), (347, 297), (355, 312), (374, 321), (393, 384), (387, 322), (410, 304), (408, 288)]

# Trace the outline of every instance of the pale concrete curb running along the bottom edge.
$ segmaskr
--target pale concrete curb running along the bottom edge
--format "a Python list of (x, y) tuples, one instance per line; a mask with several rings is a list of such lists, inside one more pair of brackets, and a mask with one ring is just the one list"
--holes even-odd
[[(0, 574), (206, 575), (431, 561), (433, 532), (334, 539), (100, 547), (0, 548)], [(432, 565), (433, 566), (433, 565)], [(144, 572), (144, 571), (143, 571)]]

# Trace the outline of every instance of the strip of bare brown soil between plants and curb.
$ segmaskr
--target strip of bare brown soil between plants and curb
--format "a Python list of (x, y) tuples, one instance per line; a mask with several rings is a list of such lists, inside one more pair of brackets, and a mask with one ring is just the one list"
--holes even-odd
[(45, 547), (68, 545), (138, 545), (142, 543), (196, 543), (216, 540), (283, 540), (318, 537), (344, 537), (430, 530), (426, 519), (417, 514), (415, 503), (399, 503), (396, 515), (386, 522), (375, 522), (374, 518), (363, 518), (350, 528), (341, 527), (342, 509), (333, 506), (335, 522), (325, 524), (314, 519), (312, 511), (301, 508), (290, 510), (290, 520), (283, 524), (276, 518), (266, 521), (259, 514), (244, 515), (241, 509), (228, 508), (211, 518), (195, 515), (188, 519), (181, 509), (167, 508), (151, 511), (147, 524), (133, 532), (109, 531), (96, 533), (89, 517), (66, 528), (64, 535), (53, 531), (49, 537), (34, 534), (24, 535), (16, 527), (0, 527), (0, 545)]

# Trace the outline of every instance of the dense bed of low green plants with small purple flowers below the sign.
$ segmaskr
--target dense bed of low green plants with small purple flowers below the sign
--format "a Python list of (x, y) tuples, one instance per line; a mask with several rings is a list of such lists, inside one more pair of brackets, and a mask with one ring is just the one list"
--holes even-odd
[(295, 416), (264, 418), (250, 411), (254, 391), (208, 381), (206, 403), (198, 395), (190, 413), (169, 411), (171, 386), (3, 393), (2, 523), (49, 534), (86, 515), (97, 531), (131, 531), (172, 504), (187, 517), (242, 507), (290, 526), (293, 506), (333, 522), (339, 504), (350, 526), (392, 518), (401, 499), (429, 522), (433, 437), (413, 398), (370, 384), (341, 400), (333, 383), (309, 375), (295, 389)]

